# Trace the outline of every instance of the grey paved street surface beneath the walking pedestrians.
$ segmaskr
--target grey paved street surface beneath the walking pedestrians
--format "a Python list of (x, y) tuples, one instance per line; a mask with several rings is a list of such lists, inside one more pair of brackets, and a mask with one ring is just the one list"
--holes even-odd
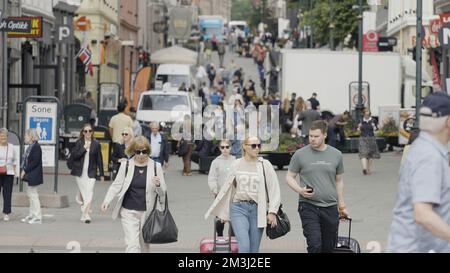
[[(361, 243), (363, 250), (371, 241), (378, 241), (384, 248), (391, 221), (397, 188), (397, 173), (400, 156), (383, 154), (375, 163), (374, 174), (364, 177), (357, 154), (345, 155), (345, 197), (354, 218), (353, 237)], [(67, 173), (65, 162), (61, 162), (63, 173)], [(193, 169), (197, 168), (193, 164)], [(212, 236), (212, 220), (204, 220), (203, 215), (212, 203), (207, 186), (207, 176), (194, 172), (192, 177), (182, 177), (182, 162), (171, 158), (166, 174), (170, 210), (179, 228), (179, 242), (170, 245), (153, 246), (154, 252), (199, 251), (200, 240)], [(304, 237), (297, 213), (297, 195), (286, 185), (286, 170), (278, 171), (281, 184), (282, 202), (293, 225), (286, 237), (270, 241), (263, 239), (262, 252), (305, 252)], [(40, 188), (42, 193), (53, 189), (51, 176)], [(42, 225), (23, 224), (20, 219), (27, 215), (28, 208), (13, 208), (12, 221), (0, 221), (0, 252), (68, 253), (75, 246), (82, 252), (123, 252), (123, 232), (120, 221), (113, 222), (111, 214), (100, 213), (100, 205), (111, 182), (98, 182), (95, 188), (93, 223), (81, 223), (80, 209), (75, 203), (77, 186), (71, 176), (60, 177), (60, 193), (67, 194), (70, 207), (66, 209), (43, 209)], [(15, 191), (17, 191), (16, 187)], [(346, 226), (341, 227), (346, 234)], [(73, 250), (73, 249), (72, 249)]]

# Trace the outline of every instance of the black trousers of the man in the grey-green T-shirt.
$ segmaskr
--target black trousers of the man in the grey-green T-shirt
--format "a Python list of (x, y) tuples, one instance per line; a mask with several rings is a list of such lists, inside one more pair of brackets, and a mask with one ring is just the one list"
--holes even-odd
[(308, 253), (331, 253), (336, 246), (339, 230), (337, 206), (321, 208), (300, 202), (298, 210)]

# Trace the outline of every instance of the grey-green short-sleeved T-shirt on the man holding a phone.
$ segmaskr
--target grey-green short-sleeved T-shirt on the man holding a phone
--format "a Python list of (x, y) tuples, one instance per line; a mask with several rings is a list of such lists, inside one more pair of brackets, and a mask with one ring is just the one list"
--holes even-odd
[(300, 185), (314, 189), (314, 196), (300, 202), (318, 207), (331, 207), (338, 204), (336, 175), (344, 173), (342, 153), (331, 146), (325, 151), (314, 150), (311, 145), (298, 150), (292, 157), (289, 171), (300, 174)]

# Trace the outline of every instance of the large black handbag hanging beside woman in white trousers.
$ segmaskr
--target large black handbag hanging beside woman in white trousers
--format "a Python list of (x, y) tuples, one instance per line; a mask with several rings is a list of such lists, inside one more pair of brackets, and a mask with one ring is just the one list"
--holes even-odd
[(156, 208), (159, 196), (155, 198), (153, 210), (142, 227), (142, 236), (147, 244), (170, 244), (178, 241), (178, 228), (169, 211), (169, 200), (166, 193), (164, 211)]

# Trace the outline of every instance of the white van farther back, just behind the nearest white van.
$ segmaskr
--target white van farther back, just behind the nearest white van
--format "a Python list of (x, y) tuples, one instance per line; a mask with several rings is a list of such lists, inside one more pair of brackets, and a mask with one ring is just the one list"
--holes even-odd
[(195, 67), (188, 64), (161, 64), (156, 70), (155, 89), (163, 90), (166, 83), (178, 90), (185, 83), (186, 87), (195, 84)]

